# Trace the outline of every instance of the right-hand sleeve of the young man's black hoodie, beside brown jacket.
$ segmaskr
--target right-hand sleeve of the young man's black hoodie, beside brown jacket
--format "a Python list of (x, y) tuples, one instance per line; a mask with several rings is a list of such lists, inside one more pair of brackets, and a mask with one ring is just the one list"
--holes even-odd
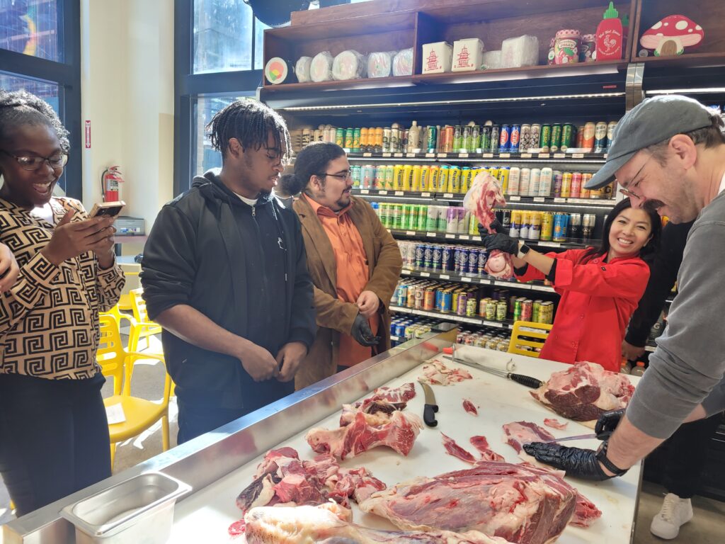
[(292, 294), (292, 315), (289, 325), (288, 342), (302, 342), (309, 349), (315, 342), (317, 325), (315, 324), (315, 302), (312, 294), (312, 279), (307, 270), (307, 252), (305, 240), (302, 239), (302, 229), (297, 214), (291, 213), (294, 218), (294, 239), (297, 245), (297, 260), (294, 271), (294, 292)]

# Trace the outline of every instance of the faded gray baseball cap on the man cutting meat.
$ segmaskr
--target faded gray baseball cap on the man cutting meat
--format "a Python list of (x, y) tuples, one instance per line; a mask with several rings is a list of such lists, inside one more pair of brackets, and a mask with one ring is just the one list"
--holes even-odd
[(679, 94), (653, 96), (637, 104), (617, 123), (607, 162), (584, 188), (599, 189), (611, 183), (616, 171), (640, 149), (658, 144), (675, 134), (708, 127), (712, 124), (712, 115), (697, 100)]

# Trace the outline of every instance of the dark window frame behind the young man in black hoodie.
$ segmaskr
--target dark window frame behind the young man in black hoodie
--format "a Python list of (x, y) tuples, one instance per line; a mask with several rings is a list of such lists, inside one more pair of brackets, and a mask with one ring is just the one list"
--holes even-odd
[(194, 103), (208, 96), (253, 95), (262, 84), (263, 70), (254, 70), (252, 18), (252, 70), (194, 73), (194, 0), (174, 2), (174, 184), (173, 194), (187, 191), (194, 173)]

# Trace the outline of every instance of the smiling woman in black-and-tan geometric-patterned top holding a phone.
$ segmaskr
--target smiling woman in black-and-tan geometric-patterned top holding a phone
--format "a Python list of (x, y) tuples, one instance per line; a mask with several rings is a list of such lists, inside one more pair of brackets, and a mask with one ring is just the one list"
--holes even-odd
[(53, 197), (67, 134), (37, 96), (0, 91), (0, 242), (20, 266), (0, 293), (0, 473), (18, 516), (111, 475), (98, 313), (124, 278), (113, 219)]

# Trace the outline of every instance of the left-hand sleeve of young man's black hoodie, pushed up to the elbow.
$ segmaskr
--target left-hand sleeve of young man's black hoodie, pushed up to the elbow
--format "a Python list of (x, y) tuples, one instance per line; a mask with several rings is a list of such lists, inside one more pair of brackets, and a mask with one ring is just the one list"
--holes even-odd
[(149, 318), (188, 304), (196, 276), (196, 232), (173, 205), (162, 207), (144, 246), (141, 285)]

